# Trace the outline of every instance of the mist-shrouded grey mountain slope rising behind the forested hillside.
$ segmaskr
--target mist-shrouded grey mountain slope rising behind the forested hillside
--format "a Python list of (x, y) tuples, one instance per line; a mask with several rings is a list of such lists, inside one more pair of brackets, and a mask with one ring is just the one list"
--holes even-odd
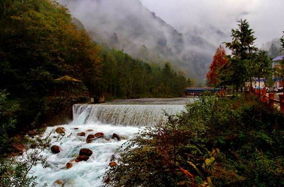
[(61, 0), (93, 39), (154, 63), (170, 61), (188, 76), (204, 79), (215, 46), (198, 32), (181, 34), (139, 0)]

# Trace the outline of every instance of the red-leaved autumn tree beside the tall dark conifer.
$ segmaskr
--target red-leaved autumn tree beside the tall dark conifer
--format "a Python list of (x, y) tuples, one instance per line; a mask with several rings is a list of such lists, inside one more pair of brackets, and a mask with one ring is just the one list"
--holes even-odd
[(213, 57), (213, 62), (210, 65), (210, 70), (207, 72), (207, 80), (210, 85), (217, 85), (219, 80), (219, 70), (222, 66), (227, 64), (227, 55), (225, 48), (219, 46)]

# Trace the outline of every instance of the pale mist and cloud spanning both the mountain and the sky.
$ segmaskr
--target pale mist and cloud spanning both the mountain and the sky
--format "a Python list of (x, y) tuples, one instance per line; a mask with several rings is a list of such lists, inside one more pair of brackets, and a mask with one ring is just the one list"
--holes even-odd
[[(273, 1), (273, 3), (272, 3)], [(283, 0), (60, 0), (94, 41), (204, 80), (216, 48), (247, 19), (256, 45), (282, 36)]]

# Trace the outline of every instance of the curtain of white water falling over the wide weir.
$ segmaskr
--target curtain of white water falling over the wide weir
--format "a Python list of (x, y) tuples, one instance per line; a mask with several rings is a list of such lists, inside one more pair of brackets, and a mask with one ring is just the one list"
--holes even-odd
[(183, 105), (172, 104), (75, 104), (73, 124), (102, 123), (122, 126), (155, 126), (176, 114)]

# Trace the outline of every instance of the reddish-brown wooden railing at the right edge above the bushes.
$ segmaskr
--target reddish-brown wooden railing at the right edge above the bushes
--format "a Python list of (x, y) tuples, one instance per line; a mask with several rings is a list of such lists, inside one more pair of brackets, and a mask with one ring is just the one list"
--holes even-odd
[(260, 97), (262, 102), (268, 102), (270, 106), (274, 107), (275, 103), (280, 104), (280, 110), (284, 113), (284, 95), (279, 94), (279, 100), (275, 99), (275, 93), (266, 93), (266, 88), (254, 89), (254, 94)]

